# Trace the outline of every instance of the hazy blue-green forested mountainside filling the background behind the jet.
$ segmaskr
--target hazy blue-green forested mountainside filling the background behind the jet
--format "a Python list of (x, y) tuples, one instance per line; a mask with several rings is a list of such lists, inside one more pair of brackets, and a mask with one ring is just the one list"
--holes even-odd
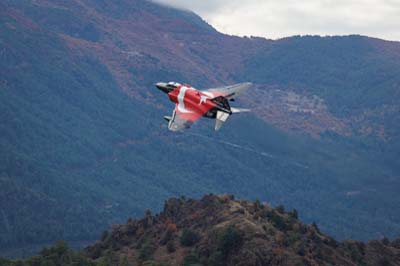
[[(208, 192), (285, 204), (340, 239), (400, 233), (398, 43), (243, 39), (146, 1), (81, 4), (0, 2), (3, 254), (97, 239), (171, 195)], [(174, 79), (293, 87), (344, 120), (367, 115), (349, 136), (284, 132), (257, 114), (172, 134), (162, 116), (173, 105), (153, 83)], [(382, 124), (383, 138), (359, 133)]]

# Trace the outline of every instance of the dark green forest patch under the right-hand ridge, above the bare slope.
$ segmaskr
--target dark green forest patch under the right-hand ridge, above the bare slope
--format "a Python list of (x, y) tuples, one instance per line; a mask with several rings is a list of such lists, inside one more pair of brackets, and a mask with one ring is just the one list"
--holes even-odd
[(361, 36), (282, 39), (249, 58), (242, 75), (316, 94), (334, 113), (355, 115), (383, 103), (398, 105), (400, 48), (390, 45)]

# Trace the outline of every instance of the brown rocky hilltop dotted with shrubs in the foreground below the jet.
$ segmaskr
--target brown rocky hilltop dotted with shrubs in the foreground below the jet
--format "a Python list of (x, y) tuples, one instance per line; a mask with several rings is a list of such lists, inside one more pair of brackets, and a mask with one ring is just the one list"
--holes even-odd
[(206, 195), (172, 198), (88, 247), (96, 261), (133, 265), (400, 265), (399, 240), (337, 242), (282, 206)]

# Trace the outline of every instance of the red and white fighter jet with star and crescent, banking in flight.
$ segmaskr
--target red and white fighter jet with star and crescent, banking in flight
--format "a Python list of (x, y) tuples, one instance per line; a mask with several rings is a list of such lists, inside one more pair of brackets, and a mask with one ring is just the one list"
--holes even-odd
[(219, 130), (231, 114), (250, 111), (229, 105), (229, 101), (234, 101), (250, 86), (251, 83), (246, 82), (221, 88), (197, 90), (190, 85), (176, 82), (156, 84), (156, 87), (167, 93), (169, 99), (175, 103), (172, 116), (164, 116), (164, 119), (168, 121), (168, 129), (171, 131), (189, 128), (201, 117), (216, 119), (215, 130)]

